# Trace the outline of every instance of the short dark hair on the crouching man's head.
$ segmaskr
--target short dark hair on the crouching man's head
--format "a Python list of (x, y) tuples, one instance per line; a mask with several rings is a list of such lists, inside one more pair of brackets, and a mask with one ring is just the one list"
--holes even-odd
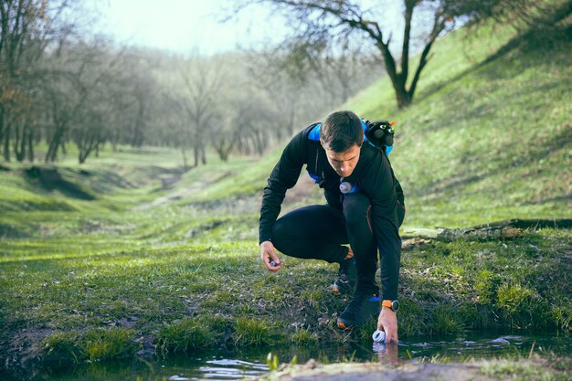
[(362, 122), (352, 111), (336, 111), (328, 115), (320, 128), (323, 148), (344, 153), (357, 144), (364, 143)]

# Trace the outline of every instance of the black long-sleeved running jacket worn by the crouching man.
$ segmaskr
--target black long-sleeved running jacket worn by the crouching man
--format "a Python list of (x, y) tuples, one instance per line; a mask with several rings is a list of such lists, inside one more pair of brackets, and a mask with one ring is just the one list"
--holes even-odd
[[(325, 151), (316, 140), (319, 123), (297, 133), (286, 145), (279, 162), (272, 170), (264, 188), (260, 208), (260, 243), (272, 240), (271, 229), (281, 211), (286, 190), (296, 185), (302, 166), (323, 188), (329, 206), (342, 210), (340, 176), (328, 163)], [(383, 300), (397, 300), (397, 285), (401, 256), (401, 238), (397, 207), (405, 209), (404, 196), (393, 174), (387, 154), (364, 142), (354, 172), (344, 181), (355, 185), (371, 200), (373, 229), (381, 261)]]

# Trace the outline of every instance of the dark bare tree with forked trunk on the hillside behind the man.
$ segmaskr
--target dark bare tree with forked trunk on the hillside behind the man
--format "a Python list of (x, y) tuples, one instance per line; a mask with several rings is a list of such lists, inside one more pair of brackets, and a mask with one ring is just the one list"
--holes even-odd
[[(530, 0), (508, 0), (508, 3), (531, 3)], [(383, 58), (385, 69), (395, 90), (397, 106), (406, 108), (413, 101), (421, 72), (429, 61), (429, 53), (437, 37), (452, 30), (460, 18), (493, 13), (503, 5), (501, 0), (403, 0), (403, 30), (400, 57), (392, 48), (392, 37), (397, 31), (387, 30), (384, 11), (387, 3), (368, 9), (353, 0), (245, 0), (238, 11), (252, 4), (269, 4), (290, 17), (296, 27), (294, 39), (307, 42), (307, 47), (323, 49), (329, 44), (339, 45), (349, 36), (364, 38)], [(427, 25), (417, 68), (411, 69), (411, 37), (414, 11)]]

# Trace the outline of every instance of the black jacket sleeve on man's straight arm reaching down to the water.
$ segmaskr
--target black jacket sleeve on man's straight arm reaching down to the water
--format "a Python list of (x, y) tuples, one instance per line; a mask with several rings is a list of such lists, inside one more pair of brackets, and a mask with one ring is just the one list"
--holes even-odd
[(401, 260), (397, 192), (389, 162), (383, 155), (377, 156), (377, 160), (369, 168), (364, 191), (372, 203), (372, 228), (381, 262), (382, 299), (395, 301)]

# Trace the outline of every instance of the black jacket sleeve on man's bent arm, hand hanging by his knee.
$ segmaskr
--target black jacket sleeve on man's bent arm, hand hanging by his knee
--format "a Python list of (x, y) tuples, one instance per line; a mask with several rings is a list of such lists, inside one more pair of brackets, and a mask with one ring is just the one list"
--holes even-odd
[(270, 173), (260, 206), (259, 243), (272, 238), (272, 225), (280, 214), (286, 190), (298, 181), (305, 157), (304, 131), (296, 134), (286, 145), (281, 158)]

